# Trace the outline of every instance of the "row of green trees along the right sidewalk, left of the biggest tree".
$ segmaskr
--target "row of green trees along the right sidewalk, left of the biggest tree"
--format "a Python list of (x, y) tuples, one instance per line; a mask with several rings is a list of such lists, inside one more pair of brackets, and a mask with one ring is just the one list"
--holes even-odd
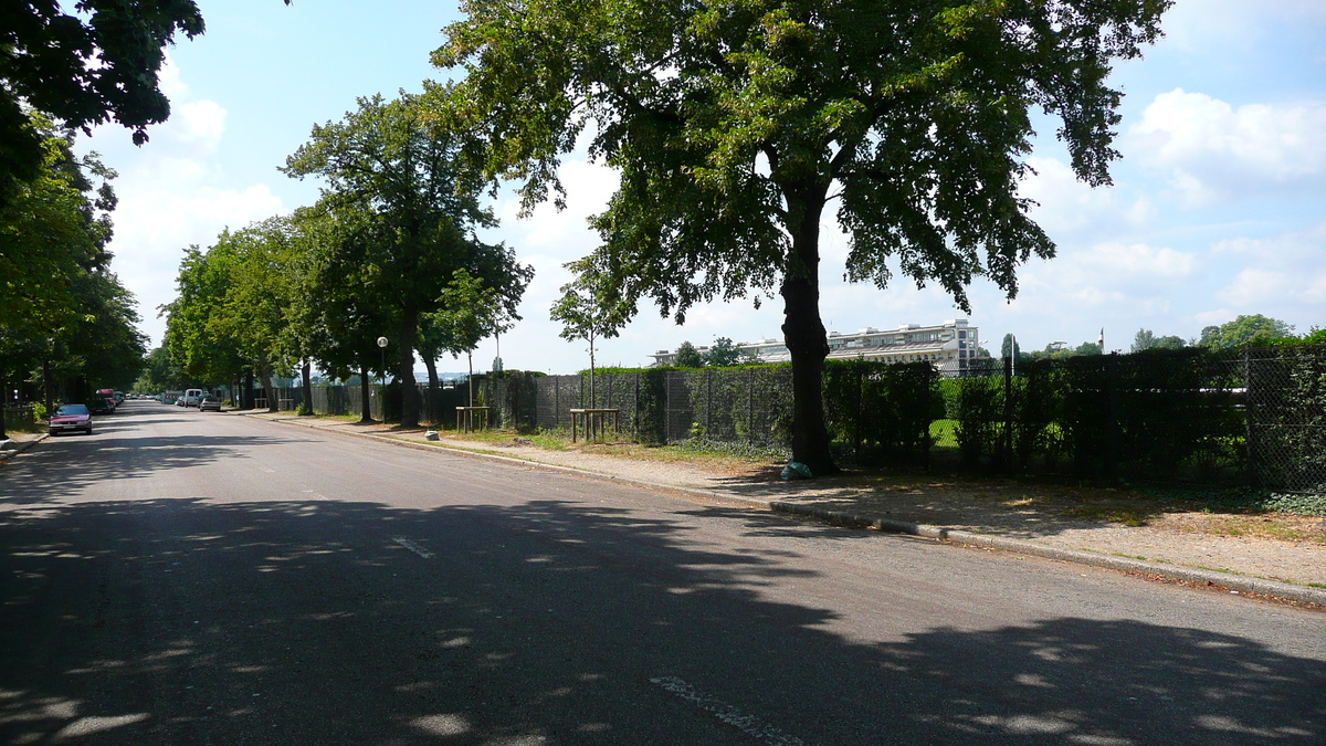
[(321, 178), (320, 200), (186, 252), (179, 295), (163, 307), (168, 357), (204, 381), (251, 370), (271, 389), (274, 373), (298, 365), (308, 386), (317, 365), (367, 389), (390, 354), (410, 384), (402, 425), (415, 426), (415, 352), (436, 388), (436, 358), (509, 328), (533, 276), (511, 248), (479, 240), (496, 220), (459, 145), (404, 93), (362, 98), (341, 122), (314, 126), (282, 170)]

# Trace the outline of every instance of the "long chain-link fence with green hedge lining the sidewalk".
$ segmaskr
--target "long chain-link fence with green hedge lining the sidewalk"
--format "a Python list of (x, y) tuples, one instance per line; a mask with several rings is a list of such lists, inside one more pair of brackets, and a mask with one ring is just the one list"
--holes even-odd
[[(442, 426), (469, 396), (420, 390)], [(835, 453), (859, 465), (1326, 491), (1326, 346), (976, 360), (957, 377), (927, 362), (830, 361), (822, 390)], [(358, 397), (316, 388), (313, 409), (357, 414)], [(615, 409), (618, 437), (642, 443), (790, 445), (788, 365), (598, 373), (593, 385), (509, 372), (476, 376), (473, 397), (521, 433), (569, 430), (572, 409)]]

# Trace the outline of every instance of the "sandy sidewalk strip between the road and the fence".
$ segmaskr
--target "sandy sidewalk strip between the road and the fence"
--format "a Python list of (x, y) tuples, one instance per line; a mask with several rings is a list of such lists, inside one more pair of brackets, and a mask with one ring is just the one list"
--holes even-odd
[[(381, 423), (248, 413), (285, 425), (314, 427), (407, 447), (569, 470), (647, 488), (664, 488), (846, 526), (927, 536), (1022, 555), (1106, 567), (1142, 576), (1326, 607), (1326, 544), (1212, 535), (1152, 526), (1075, 519), (1017, 506), (1016, 495), (972, 494), (927, 500), (928, 486), (880, 488), (869, 481), (830, 478), (782, 482), (768, 474), (735, 474), (692, 462), (662, 462), (586, 451), (554, 451), (512, 439), (495, 445), (447, 438), (426, 442), (423, 430)], [(920, 478), (919, 478), (920, 479)], [(992, 490), (1017, 488), (993, 487)], [(987, 490), (991, 491), (991, 490)], [(907, 499), (900, 499), (906, 496)], [(1005, 499), (1013, 496), (1014, 499)], [(1313, 519), (1305, 519), (1313, 520)], [(1326, 532), (1326, 519), (1319, 520)]]

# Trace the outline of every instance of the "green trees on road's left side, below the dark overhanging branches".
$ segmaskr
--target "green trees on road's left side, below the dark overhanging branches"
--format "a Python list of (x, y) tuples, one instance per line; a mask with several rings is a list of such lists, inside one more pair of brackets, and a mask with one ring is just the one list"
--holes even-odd
[[(142, 366), (134, 296), (110, 271), (114, 173), (73, 154), (74, 134), (27, 112), (34, 169), (9, 174), (0, 204), (0, 392), (81, 401), (127, 388)], [(4, 435), (0, 425), (0, 437)]]

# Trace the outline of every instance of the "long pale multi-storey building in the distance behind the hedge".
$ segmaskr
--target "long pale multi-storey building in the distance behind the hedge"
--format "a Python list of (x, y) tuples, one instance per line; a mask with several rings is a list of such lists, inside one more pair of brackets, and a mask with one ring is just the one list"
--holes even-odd
[[(947, 373), (967, 369), (977, 356), (977, 328), (967, 319), (955, 319), (932, 327), (902, 324), (896, 329), (866, 327), (854, 333), (829, 332), (829, 360), (883, 360), (886, 362), (930, 362)], [(792, 354), (782, 340), (739, 342), (737, 348), (761, 362), (789, 362)], [(704, 354), (709, 348), (696, 348)], [(651, 354), (654, 365), (672, 365), (676, 350), (660, 349)]]

